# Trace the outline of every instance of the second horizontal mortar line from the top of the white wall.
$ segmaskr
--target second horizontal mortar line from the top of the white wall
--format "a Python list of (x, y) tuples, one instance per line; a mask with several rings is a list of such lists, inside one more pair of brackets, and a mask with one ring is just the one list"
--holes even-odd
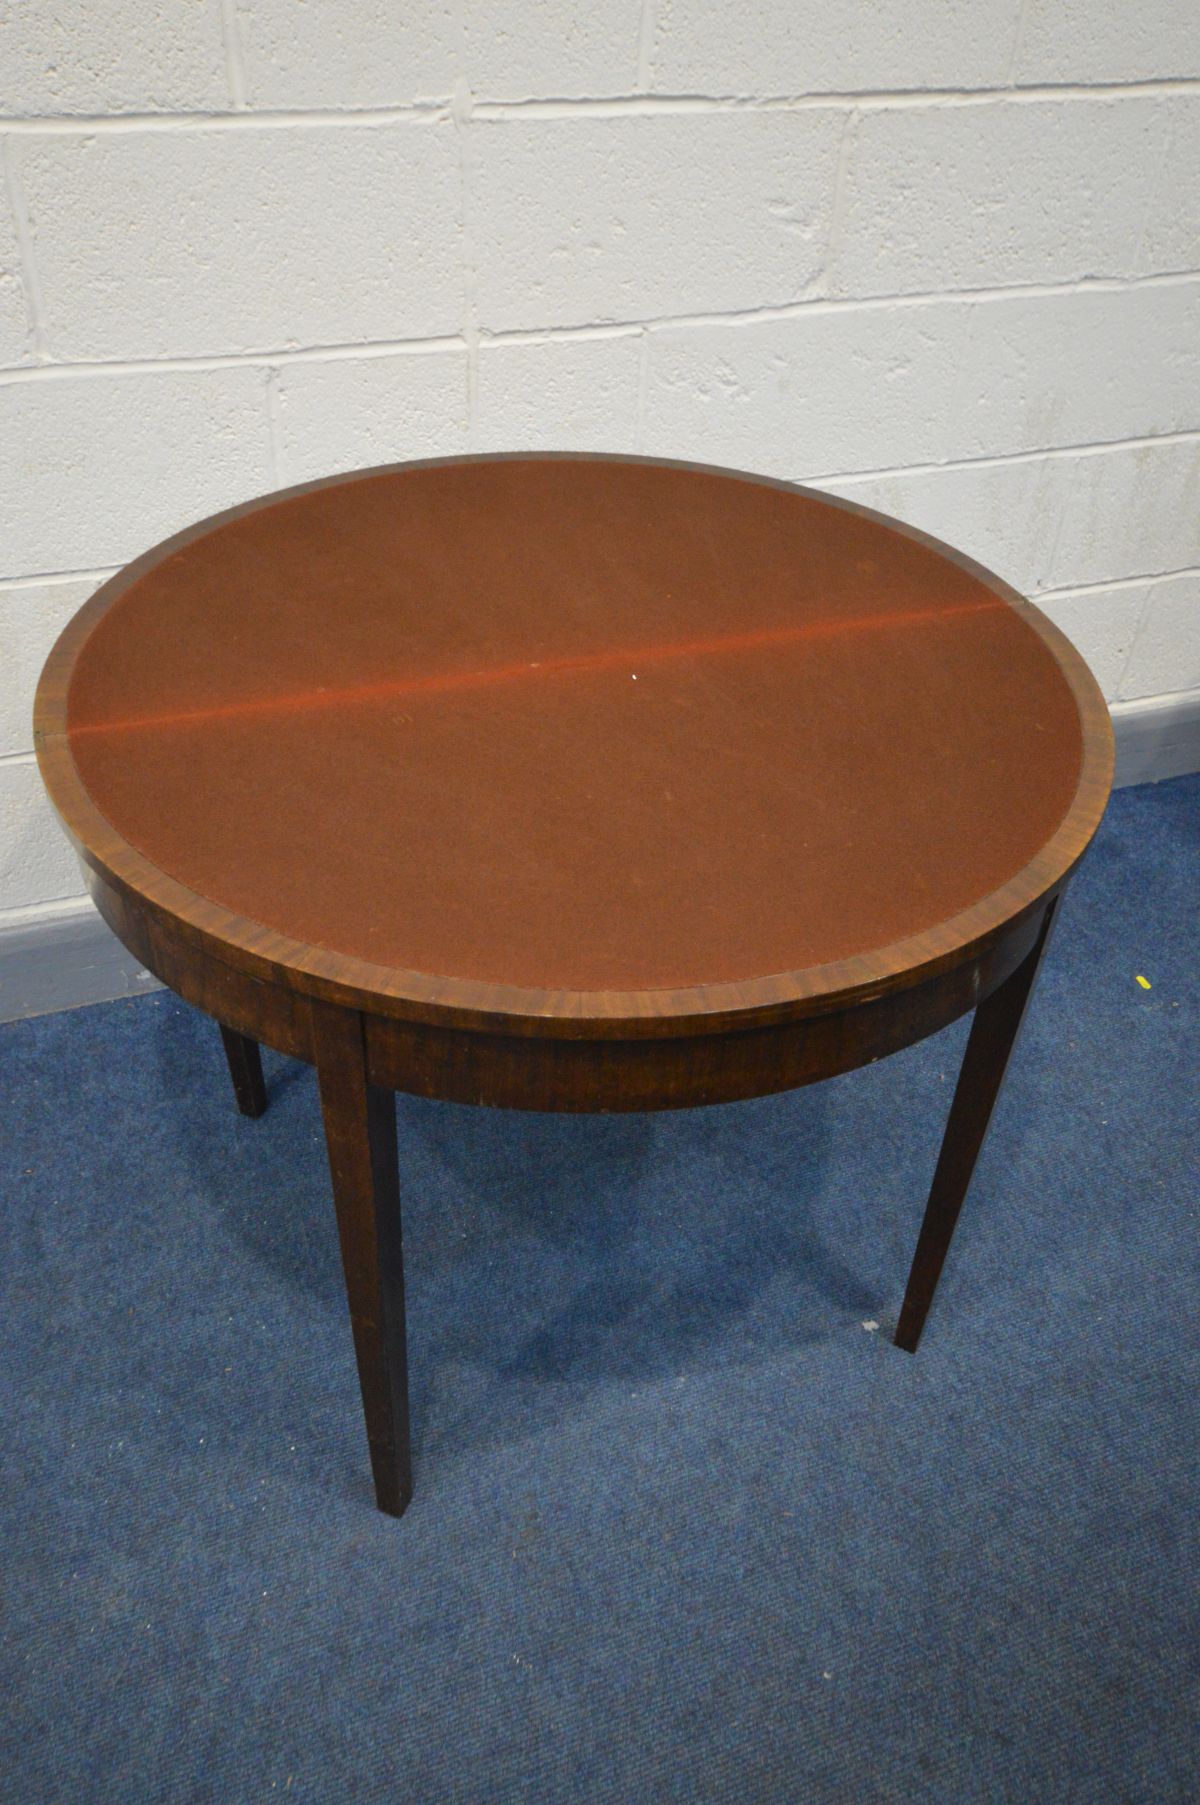
[[(1200, 269), (1168, 269), (1146, 276), (1083, 276), (1072, 282), (1023, 282), (989, 289), (933, 289), (917, 294), (826, 294), (778, 305), (731, 309), (709, 314), (655, 314), (648, 319), (612, 319), (565, 327), (502, 327), (478, 330), (480, 348), (493, 345), (547, 345), (572, 339), (635, 338), (639, 334), (716, 329), (736, 325), (769, 325), (776, 319), (801, 319), (808, 314), (861, 312), (884, 307), (953, 307), (1009, 300), (1066, 300), (1075, 294), (1131, 294), (1140, 289), (1186, 287), (1200, 280)], [(339, 363), (355, 357), (435, 356), (444, 350), (467, 350), (462, 332), (417, 339), (365, 339), (343, 345), (303, 345), (298, 348), (267, 347), (265, 350), (211, 352), (186, 357), (110, 357), (56, 363), (9, 365), (0, 368), (0, 388), (31, 381), (60, 381), (96, 375), (161, 375), (177, 372), (227, 370), (249, 366), (283, 366), (292, 363)]]

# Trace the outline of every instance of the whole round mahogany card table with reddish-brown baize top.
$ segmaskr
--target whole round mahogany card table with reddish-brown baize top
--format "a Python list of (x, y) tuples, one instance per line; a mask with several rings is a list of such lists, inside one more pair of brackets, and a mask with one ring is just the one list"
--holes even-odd
[(260, 1043), (316, 1065), (393, 1514), (395, 1092), (729, 1103), (973, 1009), (911, 1352), (1112, 783), (1083, 659), (971, 560), (789, 484), (574, 455), (189, 527), (70, 621), (36, 745), (96, 906), (217, 1018), (238, 1106), (265, 1108)]

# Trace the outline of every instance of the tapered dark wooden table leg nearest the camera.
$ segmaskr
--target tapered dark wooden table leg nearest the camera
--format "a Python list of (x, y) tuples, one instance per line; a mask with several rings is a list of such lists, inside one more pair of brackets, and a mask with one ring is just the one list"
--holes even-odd
[(366, 1079), (357, 1011), (314, 998), (312, 1040), (375, 1502), (401, 1516), (413, 1476), (395, 1094)]

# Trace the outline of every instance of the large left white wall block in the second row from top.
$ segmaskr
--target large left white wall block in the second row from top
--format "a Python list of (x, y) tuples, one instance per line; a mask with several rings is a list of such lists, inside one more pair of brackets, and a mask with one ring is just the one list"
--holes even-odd
[(52, 357), (211, 357), (457, 332), (449, 125), (22, 137)]

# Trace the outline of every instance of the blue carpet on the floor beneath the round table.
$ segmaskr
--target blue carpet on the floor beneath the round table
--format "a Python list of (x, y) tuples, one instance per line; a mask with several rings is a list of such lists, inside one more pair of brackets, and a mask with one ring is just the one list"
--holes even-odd
[(1113, 800), (915, 1359), (964, 1023), (680, 1115), (401, 1099), (401, 1523), (310, 1070), (247, 1123), (166, 993), (2, 1029), (2, 1796), (1198, 1798), (1198, 838), (1200, 778)]

